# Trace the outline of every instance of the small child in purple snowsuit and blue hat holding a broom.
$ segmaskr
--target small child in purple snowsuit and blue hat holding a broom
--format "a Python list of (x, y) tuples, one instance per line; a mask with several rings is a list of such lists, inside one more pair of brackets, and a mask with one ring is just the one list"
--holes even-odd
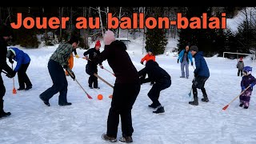
[(240, 107), (244, 106), (244, 109), (248, 109), (250, 103), (250, 95), (253, 92), (253, 86), (256, 84), (256, 78), (251, 75), (252, 67), (245, 66), (243, 68), (243, 76), (241, 80), (241, 88), (242, 91), (246, 90), (248, 86), (250, 86), (244, 93), (239, 96), (240, 99)]

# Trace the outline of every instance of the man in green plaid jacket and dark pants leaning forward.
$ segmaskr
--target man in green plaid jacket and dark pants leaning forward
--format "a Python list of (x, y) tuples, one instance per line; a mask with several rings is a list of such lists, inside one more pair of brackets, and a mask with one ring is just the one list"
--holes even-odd
[(66, 81), (66, 74), (63, 68), (68, 71), (71, 78), (75, 79), (74, 72), (70, 70), (70, 67), (68, 66), (68, 60), (72, 51), (78, 48), (78, 44), (78, 36), (72, 36), (68, 42), (60, 44), (58, 48), (54, 51), (54, 54), (50, 56), (50, 60), (48, 62), (48, 70), (50, 73), (50, 78), (53, 81), (53, 86), (51, 86), (39, 95), (39, 98), (41, 98), (46, 106), (50, 106), (49, 99), (57, 93), (59, 93), (59, 106), (69, 106), (72, 104), (71, 102), (67, 102), (66, 100), (68, 84)]

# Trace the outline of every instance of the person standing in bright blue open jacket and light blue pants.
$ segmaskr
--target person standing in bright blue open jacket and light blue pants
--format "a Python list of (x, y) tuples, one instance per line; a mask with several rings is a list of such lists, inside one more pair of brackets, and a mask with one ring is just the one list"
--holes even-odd
[(186, 46), (185, 49), (180, 51), (180, 53), (178, 54), (177, 63), (178, 62), (181, 62), (182, 76), (180, 78), (185, 78), (184, 67), (186, 69), (186, 78), (189, 78), (189, 62), (191, 62), (191, 66), (193, 66), (192, 54), (190, 53), (190, 46)]

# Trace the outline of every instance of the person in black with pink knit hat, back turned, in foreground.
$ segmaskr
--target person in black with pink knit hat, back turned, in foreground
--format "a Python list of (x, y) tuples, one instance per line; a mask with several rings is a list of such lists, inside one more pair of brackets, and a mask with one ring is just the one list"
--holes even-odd
[(116, 142), (118, 134), (119, 117), (122, 124), (121, 142), (133, 142), (131, 110), (139, 94), (141, 85), (136, 70), (124, 42), (115, 40), (114, 33), (107, 30), (104, 35), (105, 48), (96, 59), (96, 63), (107, 60), (115, 75), (114, 91), (107, 118), (106, 134), (102, 138), (106, 141)]

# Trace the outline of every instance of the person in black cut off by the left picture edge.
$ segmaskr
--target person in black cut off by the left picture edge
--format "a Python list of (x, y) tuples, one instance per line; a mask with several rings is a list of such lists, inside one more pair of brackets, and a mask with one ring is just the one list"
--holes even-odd
[(8, 78), (13, 78), (16, 73), (10, 68), (6, 63), (6, 54), (8, 41), (11, 38), (11, 31), (7, 26), (0, 26), (0, 118), (10, 116), (10, 112), (5, 112), (3, 110), (3, 97), (6, 94), (6, 87), (2, 81), (2, 70), (7, 74)]

